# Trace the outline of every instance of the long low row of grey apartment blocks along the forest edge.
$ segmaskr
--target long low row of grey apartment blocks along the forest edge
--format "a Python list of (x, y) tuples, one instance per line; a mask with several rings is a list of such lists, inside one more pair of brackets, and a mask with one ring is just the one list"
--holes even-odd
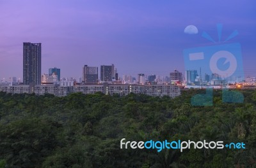
[[(57, 82), (58, 83), (58, 82)], [(177, 85), (129, 85), (129, 84), (109, 84), (97, 83), (86, 85), (63, 85), (62, 83), (55, 83), (54, 85), (13, 85), (0, 86), (0, 92), (7, 92), (10, 94), (32, 94), (44, 95), (53, 94), (58, 97), (67, 96), (75, 92), (83, 94), (95, 94), (102, 92), (106, 95), (128, 95), (145, 94), (151, 96), (162, 97), (168, 95), (172, 98), (180, 95), (180, 87)]]

